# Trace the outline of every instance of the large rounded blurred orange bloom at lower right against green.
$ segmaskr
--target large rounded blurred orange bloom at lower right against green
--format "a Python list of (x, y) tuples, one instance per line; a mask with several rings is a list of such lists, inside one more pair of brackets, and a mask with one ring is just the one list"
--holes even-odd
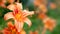
[(44, 19), (43, 23), (44, 23), (44, 27), (46, 29), (49, 29), (50, 31), (52, 31), (54, 29), (54, 27), (56, 26), (56, 21), (51, 18)]

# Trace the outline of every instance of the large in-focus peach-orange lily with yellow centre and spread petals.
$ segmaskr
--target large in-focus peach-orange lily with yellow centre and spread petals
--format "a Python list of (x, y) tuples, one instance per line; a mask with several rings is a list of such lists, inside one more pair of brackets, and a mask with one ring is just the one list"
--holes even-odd
[(15, 20), (15, 27), (19, 32), (22, 30), (24, 22), (31, 26), (32, 23), (27, 18), (27, 16), (34, 14), (33, 11), (29, 12), (28, 10), (22, 10), (21, 7), (22, 5), (20, 3), (10, 5), (9, 9), (13, 10), (13, 12), (8, 12), (4, 16), (5, 20), (8, 20), (10, 18), (13, 18)]

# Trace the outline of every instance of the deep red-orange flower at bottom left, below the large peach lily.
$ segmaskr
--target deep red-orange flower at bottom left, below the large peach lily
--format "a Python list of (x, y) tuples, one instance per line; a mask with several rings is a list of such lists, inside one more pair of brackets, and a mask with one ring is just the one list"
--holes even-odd
[(11, 22), (8, 23), (8, 28), (5, 28), (2, 31), (2, 33), (3, 34), (26, 34), (24, 30), (21, 30), (21, 32), (18, 32), (15, 26)]

